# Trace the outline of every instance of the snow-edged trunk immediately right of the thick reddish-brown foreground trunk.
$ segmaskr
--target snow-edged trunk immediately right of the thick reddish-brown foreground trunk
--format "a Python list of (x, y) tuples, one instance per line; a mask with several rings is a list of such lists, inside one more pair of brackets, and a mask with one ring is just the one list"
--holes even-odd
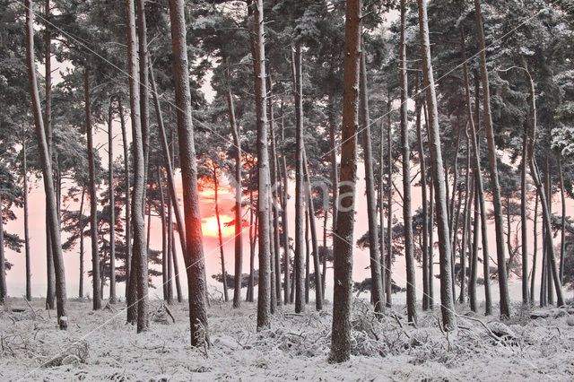
[[(362, 44), (362, 40), (361, 40)], [(367, 79), (367, 64), (365, 47), (361, 46), (360, 67), (360, 107), (362, 122), (362, 151), (365, 162), (365, 187), (367, 193), (367, 217), (369, 223), (369, 254), (370, 254), (370, 296), (375, 312), (381, 312), (383, 303), (383, 283), (381, 278), (381, 258), (378, 253), (378, 228), (377, 228), (377, 196), (375, 195), (375, 179), (373, 175), (373, 152), (370, 142), (370, 115), (369, 115), (369, 90)]]

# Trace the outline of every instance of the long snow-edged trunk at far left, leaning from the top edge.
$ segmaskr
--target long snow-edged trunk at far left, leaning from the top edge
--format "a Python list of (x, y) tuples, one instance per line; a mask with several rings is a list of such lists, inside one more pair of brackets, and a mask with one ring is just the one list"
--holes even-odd
[(34, 58), (34, 21), (32, 1), (25, 0), (26, 8), (26, 65), (28, 68), (28, 82), (30, 85), (30, 98), (32, 111), (34, 114), (34, 123), (36, 126), (36, 139), (38, 140), (38, 151), (42, 176), (44, 178), (44, 190), (48, 203), (48, 227), (49, 237), (52, 249), (52, 259), (54, 262), (54, 271), (56, 275), (56, 299), (57, 299), (57, 318), (60, 329), (66, 329), (68, 320), (65, 312), (65, 269), (64, 257), (62, 256), (62, 242), (60, 236), (60, 222), (57, 216), (57, 200), (54, 190), (54, 178), (52, 176), (52, 163), (48, 150), (46, 131), (44, 130), (44, 121), (42, 120), (42, 110), (40, 107), (38, 83), (35, 71)]

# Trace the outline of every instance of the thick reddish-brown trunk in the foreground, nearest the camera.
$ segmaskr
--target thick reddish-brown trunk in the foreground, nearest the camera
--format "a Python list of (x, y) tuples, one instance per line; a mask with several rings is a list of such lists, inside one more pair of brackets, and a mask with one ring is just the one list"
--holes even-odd
[(333, 326), (331, 354), (333, 362), (351, 358), (352, 233), (357, 181), (357, 128), (359, 126), (359, 82), (361, 61), (361, 0), (347, 0), (344, 38), (343, 125), (341, 177), (339, 184), (337, 228), (335, 234)]

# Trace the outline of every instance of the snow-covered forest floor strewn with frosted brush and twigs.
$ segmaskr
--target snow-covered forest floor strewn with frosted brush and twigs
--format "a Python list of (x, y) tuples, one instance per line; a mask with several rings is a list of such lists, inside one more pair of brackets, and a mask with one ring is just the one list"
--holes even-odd
[[(175, 324), (152, 300), (151, 330), (135, 334), (125, 305), (91, 310), (71, 300), (70, 326), (57, 329), (43, 300), (10, 299), (0, 308), (0, 380), (572, 380), (574, 309), (515, 307), (501, 324), (459, 307), (456, 332), (444, 334), (439, 310), (408, 326), (404, 307), (377, 319), (355, 300), (352, 360), (328, 363), (331, 306), (304, 314), (289, 306), (257, 333), (256, 305), (212, 302), (211, 347), (189, 345), (187, 303), (170, 305)], [(474, 319), (468, 318), (472, 317)]]

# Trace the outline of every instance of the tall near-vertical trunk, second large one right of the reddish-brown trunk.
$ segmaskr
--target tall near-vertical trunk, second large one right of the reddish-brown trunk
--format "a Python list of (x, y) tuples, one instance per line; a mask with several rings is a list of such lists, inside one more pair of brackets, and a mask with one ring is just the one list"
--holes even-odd
[(408, 77), (406, 74), (406, 5), (401, 0), (401, 145), (403, 146), (403, 221), (404, 257), (406, 261), (406, 310), (410, 323), (416, 325), (416, 287), (413, 255), (413, 213), (411, 211), (411, 149), (408, 131)]

